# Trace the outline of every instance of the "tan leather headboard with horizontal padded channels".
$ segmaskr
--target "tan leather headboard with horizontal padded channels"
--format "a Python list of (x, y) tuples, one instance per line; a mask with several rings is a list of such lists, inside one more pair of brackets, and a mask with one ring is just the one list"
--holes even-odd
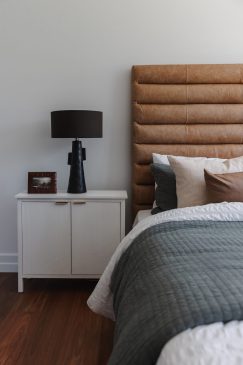
[(152, 152), (243, 155), (243, 65), (133, 66), (133, 213), (151, 208)]

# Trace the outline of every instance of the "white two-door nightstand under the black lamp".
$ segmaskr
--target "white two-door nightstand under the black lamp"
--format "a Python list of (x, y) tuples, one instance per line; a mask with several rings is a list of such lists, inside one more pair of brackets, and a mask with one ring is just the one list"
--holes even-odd
[(24, 278), (100, 277), (125, 235), (126, 191), (16, 198), (19, 292)]

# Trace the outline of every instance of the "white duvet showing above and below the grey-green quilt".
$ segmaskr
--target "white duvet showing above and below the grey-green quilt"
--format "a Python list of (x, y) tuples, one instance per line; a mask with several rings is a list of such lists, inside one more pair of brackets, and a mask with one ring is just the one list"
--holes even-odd
[[(88, 299), (96, 313), (115, 320), (110, 280), (116, 262), (142, 231), (153, 225), (182, 220), (243, 221), (243, 203), (208, 204), (173, 209), (140, 221), (122, 240)], [(243, 280), (243, 278), (242, 278)], [(157, 365), (243, 365), (243, 321), (214, 323), (188, 329), (163, 348)], [(122, 364), (121, 364), (122, 365)]]

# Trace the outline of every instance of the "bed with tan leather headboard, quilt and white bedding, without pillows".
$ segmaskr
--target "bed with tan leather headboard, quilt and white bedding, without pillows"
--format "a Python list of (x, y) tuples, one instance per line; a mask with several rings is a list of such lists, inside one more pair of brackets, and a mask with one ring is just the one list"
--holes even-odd
[(152, 153), (243, 155), (243, 66), (134, 66), (133, 214), (88, 300), (116, 320), (109, 365), (243, 364), (243, 203), (151, 209)]

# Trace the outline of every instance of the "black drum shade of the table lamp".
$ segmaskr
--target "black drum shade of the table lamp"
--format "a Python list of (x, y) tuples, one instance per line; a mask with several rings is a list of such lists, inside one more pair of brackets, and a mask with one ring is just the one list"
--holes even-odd
[(58, 110), (51, 112), (52, 138), (101, 138), (102, 112)]

